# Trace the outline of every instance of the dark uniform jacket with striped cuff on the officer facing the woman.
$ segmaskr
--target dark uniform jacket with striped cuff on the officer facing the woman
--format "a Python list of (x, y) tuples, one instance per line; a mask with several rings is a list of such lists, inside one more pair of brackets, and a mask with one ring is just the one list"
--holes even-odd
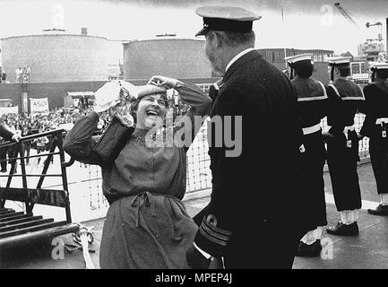
[[(234, 147), (225, 142), (217, 146), (214, 132), (220, 126), (208, 126), (212, 193), (210, 204), (199, 213), (195, 244), (213, 256), (256, 248), (253, 244), (260, 243), (250, 243), (252, 235), (277, 237), (267, 234), (265, 224), (279, 224), (286, 236), (295, 232), (300, 239), (306, 232), (300, 228), (304, 222), (297, 204), (302, 198), (296, 187), (303, 134), (289, 79), (258, 51), (250, 51), (229, 66), (210, 115), (221, 116), (224, 125), (225, 116), (242, 117), (241, 140), (237, 138), (242, 148), (239, 156), (226, 156)], [(232, 128), (232, 135), (236, 132)], [(225, 129), (223, 135), (228, 137)], [(195, 220), (201, 222), (198, 216)]]

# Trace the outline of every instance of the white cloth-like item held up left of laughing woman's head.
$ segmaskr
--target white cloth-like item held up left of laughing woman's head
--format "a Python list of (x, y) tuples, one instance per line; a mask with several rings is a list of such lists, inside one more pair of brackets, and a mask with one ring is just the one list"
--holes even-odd
[(96, 112), (103, 112), (120, 101), (121, 85), (118, 81), (105, 83), (94, 93)]

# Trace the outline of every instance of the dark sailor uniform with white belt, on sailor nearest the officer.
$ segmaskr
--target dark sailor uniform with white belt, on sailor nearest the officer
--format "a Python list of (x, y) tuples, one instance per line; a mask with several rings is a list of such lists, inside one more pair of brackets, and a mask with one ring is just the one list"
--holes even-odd
[[(323, 165), (325, 148), (321, 120), (327, 116), (330, 98), (323, 83), (312, 78), (296, 77), (291, 81), (297, 91), (297, 109), (303, 127), (302, 184), (306, 188), (306, 214), (316, 226), (324, 226), (326, 203), (324, 198)], [(332, 89), (328, 89), (329, 93)]]

